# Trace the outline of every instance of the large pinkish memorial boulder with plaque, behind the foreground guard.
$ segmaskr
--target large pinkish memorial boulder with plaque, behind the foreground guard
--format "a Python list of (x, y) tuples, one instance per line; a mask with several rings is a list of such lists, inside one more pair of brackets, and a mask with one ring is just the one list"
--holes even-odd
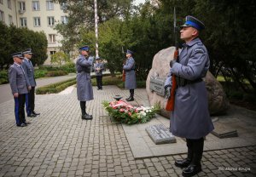
[[(174, 47), (162, 49), (154, 55), (152, 68), (148, 73), (146, 90), (150, 105), (160, 102), (161, 115), (170, 117), (170, 111), (166, 111), (166, 98), (164, 98), (164, 84), (168, 72), (170, 71), (170, 61), (173, 60)], [(208, 104), (210, 114), (222, 114), (230, 107), (222, 85), (208, 71), (207, 76), (203, 78), (207, 85)]]

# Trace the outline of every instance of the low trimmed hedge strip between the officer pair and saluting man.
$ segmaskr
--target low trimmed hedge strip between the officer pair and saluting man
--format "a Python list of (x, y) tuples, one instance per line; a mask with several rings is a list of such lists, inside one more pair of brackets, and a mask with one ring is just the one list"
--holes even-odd
[(37, 88), (36, 93), (37, 94), (56, 94), (76, 83), (77, 83), (76, 79), (73, 78), (67, 81), (62, 81), (60, 83), (49, 84), (44, 87)]

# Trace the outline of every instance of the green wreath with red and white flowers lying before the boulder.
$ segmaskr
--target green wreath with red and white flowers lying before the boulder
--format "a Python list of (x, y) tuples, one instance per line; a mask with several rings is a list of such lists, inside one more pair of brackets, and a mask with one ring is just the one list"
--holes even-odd
[(123, 100), (112, 102), (103, 101), (102, 105), (108, 111), (108, 115), (116, 121), (127, 124), (147, 123), (155, 113), (160, 111), (160, 105), (151, 107), (131, 106)]

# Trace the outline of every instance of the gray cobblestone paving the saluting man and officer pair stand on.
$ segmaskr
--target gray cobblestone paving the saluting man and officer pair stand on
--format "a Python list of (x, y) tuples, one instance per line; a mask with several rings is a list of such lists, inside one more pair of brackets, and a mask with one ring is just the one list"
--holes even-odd
[[(136, 89), (138, 100), (147, 100)], [(26, 128), (15, 126), (14, 101), (0, 104), (0, 176), (181, 176), (174, 160), (184, 154), (135, 158), (123, 125), (111, 123), (102, 100), (127, 90), (94, 87), (88, 102), (92, 121), (80, 118), (76, 89), (69, 94), (36, 96), (36, 111)], [(256, 146), (206, 151), (198, 176), (255, 176)]]

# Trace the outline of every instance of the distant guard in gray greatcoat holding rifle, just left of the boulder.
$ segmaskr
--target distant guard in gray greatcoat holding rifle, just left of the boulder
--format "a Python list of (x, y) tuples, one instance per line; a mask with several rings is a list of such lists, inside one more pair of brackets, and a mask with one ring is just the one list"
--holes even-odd
[(126, 51), (126, 60), (123, 66), (123, 70), (125, 70), (125, 88), (130, 89), (129, 98), (125, 99), (127, 101), (134, 100), (134, 89), (137, 87), (136, 85), (136, 74), (135, 74), (135, 60), (132, 57), (133, 52), (129, 49)]

